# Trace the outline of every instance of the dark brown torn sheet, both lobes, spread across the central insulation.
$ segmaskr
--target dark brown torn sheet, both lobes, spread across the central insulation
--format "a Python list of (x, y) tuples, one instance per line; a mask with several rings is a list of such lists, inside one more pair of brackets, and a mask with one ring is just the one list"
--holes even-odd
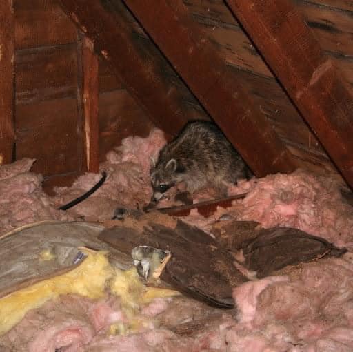
[[(130, 254), (138, 246), (170, 251), (161, 280), (183, 293), (216, 307), (232, 308), (232, 288), (247, 281), (247, 271), (258, 277), (286, 265), (340, 256), (323, 238), (297, 229), (258, 229), (256, 222), (232, 222), (214, 229), (212, 238), (197, 227), (164, 214), (145, 214), (110, 221), (99, 239)], [(243, 256), (239, 256), (239, 251)]]

